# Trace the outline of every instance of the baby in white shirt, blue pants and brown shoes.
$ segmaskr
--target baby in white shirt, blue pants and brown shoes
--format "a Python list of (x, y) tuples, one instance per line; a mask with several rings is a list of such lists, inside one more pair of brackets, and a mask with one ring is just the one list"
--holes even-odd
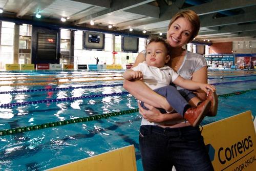
[[(138, 66), (131, 70), (126, 70), (123, 78), (127, 80), (143, 80), (148, 87), (166, 98), (166, 104), (162, 105), (160, 103), (158, 106), (159, 108), (162, 106), (165, 108), (164, 113), (166, 111), (172, 112), (175, 109), (191, 125), (197, 126), (209, 111), (211, 102), (205, 100), (195, 108), (191, 108), (179, 91), (175, 87), (169, 86), (169, 84), (173, 82), (177, 86), (189, 90), (201, 89), (206, 93), (208, 93), (207, 89), (215, 91), (215, 87), (206, 83), (186, 80), (174, 72), (172, 68), (165, 66), (165, 63), (170, 60), (169, 49), (170, 47), (164, 39), (159, 37), (151, 38), (146, 46), (146, 61), (139, 63)], [(143, 106), (143, 102), (141, 102), (141, 105)], [(144, 109), (147, 108), (144, 107)], [(144, 122), (147, 123), (142, 119), (142, 125)]]

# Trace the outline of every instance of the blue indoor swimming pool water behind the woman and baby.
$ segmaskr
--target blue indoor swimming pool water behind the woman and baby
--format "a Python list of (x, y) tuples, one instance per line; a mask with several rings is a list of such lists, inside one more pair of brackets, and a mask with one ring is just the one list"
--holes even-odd
[[(0, 130), (137, 109), (136, 99), (122, 88), (122, 73), (123, 70), (2, 72), (0, 84), (5, 86), (0, 87)], [(247, 110), (255, 116), (256, 72), (209, 71), (209, 83), (219, 84), (219, 95), (250, 91), (220, 97), (218, 115), (206, 117), (202, 124)], [(0, 136), (0, 169), (44, 170), (134, 144), (137, 168), (142, 170), (140, 121), (135, 112)]]

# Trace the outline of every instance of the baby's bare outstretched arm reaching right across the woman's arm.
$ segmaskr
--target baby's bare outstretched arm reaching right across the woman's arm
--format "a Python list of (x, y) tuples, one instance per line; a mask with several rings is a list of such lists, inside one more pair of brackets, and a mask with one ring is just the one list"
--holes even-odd
[(207, 92), (207, 89), (210, 89), (211, 91), (215, 92), (216, 88), (210, 84), (207, 83), (202, 83), (202, 82), (196, 82), (188, 79), (184, 79), (181, 76), (178, 76), (175, 80), (174, 83), (180, 87), (183, 87), (188, 90), (198, 90), (201, 89), (205, 93)]

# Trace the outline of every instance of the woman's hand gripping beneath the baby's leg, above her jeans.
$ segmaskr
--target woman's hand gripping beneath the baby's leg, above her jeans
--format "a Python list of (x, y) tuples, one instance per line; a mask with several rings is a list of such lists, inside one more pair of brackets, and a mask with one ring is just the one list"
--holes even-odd
[(152, 105), (149, 105), (149, 104), (146, 104), (146, 103), (144, 103), (144, 105), (146, 106), (148, 111), (143, 109), (142, 106), (140, 105), (140, 102), (138, 102), (139, 113), (142, 115), (142, 117), (144, 119), (146, 119), (149, 122), (157, 122), (157, 123), (163, 122), (163, 120), (162, 120), (163, 114), (161, 114), (159, 110), (157, 110)]

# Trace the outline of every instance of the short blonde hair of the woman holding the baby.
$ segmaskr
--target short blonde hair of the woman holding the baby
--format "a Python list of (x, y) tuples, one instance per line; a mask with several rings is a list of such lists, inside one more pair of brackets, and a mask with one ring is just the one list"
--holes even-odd
[(195, 13), (192, 10), (180, 11), (172, 17), (172, 20), (170, 20), (168, 30), (170, 29), (170, 26), (175, 22), (175, 20), (178, 19), (179, 17), (186, 18), (191, 23), (191, 25), (193, 26), (193, 32), (192, 32), (191, 37), (188, 40), (188, 42), (189, 42), (189, 41), (193, 40), (199, 32), (199, 29), (200, 29), (199, 16), (197, 15), (197, 13)]

